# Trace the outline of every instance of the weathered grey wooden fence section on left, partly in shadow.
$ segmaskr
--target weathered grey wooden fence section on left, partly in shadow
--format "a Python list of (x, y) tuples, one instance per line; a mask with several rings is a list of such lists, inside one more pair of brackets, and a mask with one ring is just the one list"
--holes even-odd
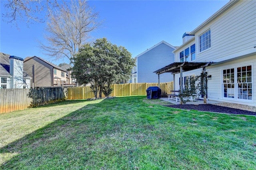
[(62, 87), (0, 89), (0, 113), (62, 101), (66, 99), (66, 91)]

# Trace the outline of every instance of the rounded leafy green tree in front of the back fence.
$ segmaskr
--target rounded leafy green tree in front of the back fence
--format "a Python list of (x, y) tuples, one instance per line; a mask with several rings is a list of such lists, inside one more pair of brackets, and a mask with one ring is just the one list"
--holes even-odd
[(125, 47), (114, 45), (106, 38), (83, 45), (74, 58), (72, 75), (79, 83), (90, 83), (95, 98), (111, 93), (112, 83), (130, 78), (134, 59)]

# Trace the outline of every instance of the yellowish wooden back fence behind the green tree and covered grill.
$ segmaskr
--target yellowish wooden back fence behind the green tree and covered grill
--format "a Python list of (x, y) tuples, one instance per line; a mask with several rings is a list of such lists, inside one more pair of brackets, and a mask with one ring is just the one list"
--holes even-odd
[[(158, 86), (158, 83), (127, 83), (114, 84), (111, 96), (134, 96), (146, 95), (146, 89), (150, 86)], [(173, 90), (173, 81), (168, 83), (160, 83), (162, 95), (166, 95), (170, 90)], [(102, 95), (104, 97), (104, 95)], [(90, 99), (94, 97), (94, 93), (89, 86), (84, 87), (68, 87), (67, 99)]]

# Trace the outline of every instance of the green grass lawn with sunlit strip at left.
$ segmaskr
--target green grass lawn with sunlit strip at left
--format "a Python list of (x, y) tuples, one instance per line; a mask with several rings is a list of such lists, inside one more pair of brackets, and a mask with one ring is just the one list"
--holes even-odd
[(145, 96), (0, 114), (0, 169), (256, 169), (256, 117)]

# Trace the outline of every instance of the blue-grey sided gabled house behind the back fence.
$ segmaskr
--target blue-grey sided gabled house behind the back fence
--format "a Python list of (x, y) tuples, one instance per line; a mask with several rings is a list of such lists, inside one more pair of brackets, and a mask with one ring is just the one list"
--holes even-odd
[[(158, 75), (153, 73), (156, 69), (164, 67), (166, 63), (174, 62), (174, 51), (176, 47), (162, 41), (137, 55), (136, 66), (132, 69), (131, 83), (156, 83)], [(160, 75), (160, 82), (173, 81), (171, 73)]]

